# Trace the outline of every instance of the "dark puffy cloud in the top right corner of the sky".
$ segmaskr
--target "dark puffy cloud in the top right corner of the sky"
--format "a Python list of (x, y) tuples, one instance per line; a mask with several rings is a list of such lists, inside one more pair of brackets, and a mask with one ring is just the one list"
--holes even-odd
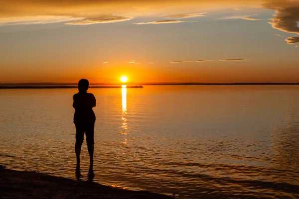
[[(273, 28), (299, 35), (299, 1), (298, 0), (269, 0), (264, 6), (275, 9), (274, 17), (269, 22)], [(289, 37), (286, 41), (290, 44), (299, 42), (298, 37)]]

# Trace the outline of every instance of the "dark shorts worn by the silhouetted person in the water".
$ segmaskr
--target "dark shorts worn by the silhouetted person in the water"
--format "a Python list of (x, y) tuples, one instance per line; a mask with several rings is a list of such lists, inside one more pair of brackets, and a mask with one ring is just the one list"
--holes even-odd
[(94, 147), (94, 128), (95, 123), (75, 124), (76, 125), (76, 147), (81, 147), (86, 134), (87, 147)]

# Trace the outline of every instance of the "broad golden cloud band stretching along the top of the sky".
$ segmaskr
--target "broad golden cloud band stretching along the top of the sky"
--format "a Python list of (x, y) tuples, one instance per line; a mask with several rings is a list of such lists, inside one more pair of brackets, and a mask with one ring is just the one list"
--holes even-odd
[[(198, 10), (222, 10), (239, 6), (253, 6), (259, 0), (0, 0), (0, 21), (6, 25), (54, 23), (65, 16), (67, 24), (88, 25), (130, 20), (137, 16), (168, 16), (190, 18), (204, 15)], [(177, 13), (177, 11), (183, 14)], [(106, 16), (103, 18), (103, 16)], [(132, 17), (128, 17), (132, 16)], [(26, 17), (36, 17), (33, 22)], [(44, 17), (47, 18), (46, 21)], [(17, 20), (16, 20), (17, 19)], [(41, 20), (42, 19), (42, 20)], [(69, 20), (70, 19), (70, 20)]]

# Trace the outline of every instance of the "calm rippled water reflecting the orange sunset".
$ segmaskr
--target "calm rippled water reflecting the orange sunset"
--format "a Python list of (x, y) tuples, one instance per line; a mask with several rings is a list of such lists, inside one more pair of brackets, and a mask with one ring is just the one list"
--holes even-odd
[[(76, 92), (0, 90), (0, 164), (75, 179)], [(299, 198), (299, 86), (90, 92), (94, 181), (181, 199)]]

